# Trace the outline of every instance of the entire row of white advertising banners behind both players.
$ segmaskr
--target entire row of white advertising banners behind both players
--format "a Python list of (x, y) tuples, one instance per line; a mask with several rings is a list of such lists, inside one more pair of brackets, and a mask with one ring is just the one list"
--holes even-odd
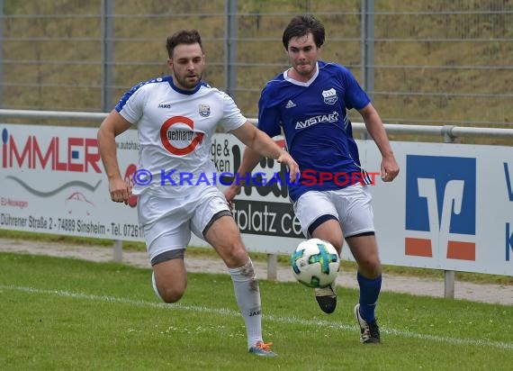
[[(0, 133), (0, 229), (143, 240), (137, 198), (111, 202), (94, 128), (0, 124)], [(128, 179), (137, 170), (137, 132), (116, 142)], [(365, 169), (379, 172), (374, 141), (357, 142)], [(388, 184), (377, 176), (370, 185), (383, 264), (513, 276), (513, 148), (392, 147), (400, 176)], [(211, 140), (221, 188), (238, 179), (243, 151), (232, 135)], [(250, 250), (288, 255), (304, 237), (286, 169), (266, 158), (253, 176), (256, 184), (243, 187), (234, 209), (243, 240)], [(195, 237), (191, 244), (206, 246)], [(352, 258), (347, 247), (343, 257)]]

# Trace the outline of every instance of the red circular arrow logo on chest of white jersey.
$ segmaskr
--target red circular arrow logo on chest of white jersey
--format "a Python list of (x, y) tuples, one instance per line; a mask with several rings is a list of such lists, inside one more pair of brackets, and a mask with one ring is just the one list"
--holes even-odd
[[(175, 124), (184, 124), (187, 125), (191, 131), (184, 130), (170, 130), (171, 126)], [(166, 122), (160, 128), (160, 140), (162, 141), (162, 145), (169, 152), (173, 153), (177, 156), (184, 156), (191, 153), (198, 144), (202, 143), (203, 133), (202, 132), (194, 132), (194, 122), (188, 117), (184, 116), (175, 116), (167, 119)], [(190, 134), (189, 134), (190, 133)], [(195, 136), (193, 135), (195, 134)], [(189, 144), (185, 147), (175, 147), (172, 143), (173, 140), (185, 140), (189, 141)]]

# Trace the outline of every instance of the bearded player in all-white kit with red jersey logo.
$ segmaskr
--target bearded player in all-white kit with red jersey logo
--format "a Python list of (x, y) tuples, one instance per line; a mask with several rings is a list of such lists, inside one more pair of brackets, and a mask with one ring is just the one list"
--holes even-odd
[[(248, 351), (274, 357), (272, 343), (262, 339), (260, 292), (253, 264), (228, 203), (216, 187), (211, 136), (221, 124), (260, 155), (284, 163), (293, 176), (299, 168), (274, 140), (247, 122), (229, 95), (202, 81), (205, 57), (199, 32), (176, 32), (167, 38), (166, 49), (172, 75), (132, 87), (98, 130), (112, 201), (127, 204), (132, 193), (138, 195), (153, 288), (166, 303), (175, 303), (184, 294), (184, 250), (191, 231), (208, 241), (228, 267), (246, 324)], [(132, 189), (121, 177), (115, 137), (133, 126), (138, 129), (139, 166)], [(182, 182), (183, 174), (188, 179), (192, 175), (192, 182)]]

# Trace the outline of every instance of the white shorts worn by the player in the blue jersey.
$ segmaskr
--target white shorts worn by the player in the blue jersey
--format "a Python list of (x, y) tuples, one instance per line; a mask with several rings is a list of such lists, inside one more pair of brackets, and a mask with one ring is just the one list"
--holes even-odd
[(333, 191), (307, 192), (300, 196), (293, 207), (307, 238), (311, 238), (308, 231), (311, 223), (322, 215), (333, 215), (337, 218), (344, 237), (347, 238), (374, 232), (372, 200), (367, 185), (351, 185)]

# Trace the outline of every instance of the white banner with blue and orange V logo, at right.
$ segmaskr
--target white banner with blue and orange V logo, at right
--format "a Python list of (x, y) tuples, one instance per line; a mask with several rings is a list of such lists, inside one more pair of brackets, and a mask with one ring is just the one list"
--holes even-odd
[(513, 148), (392, 145), (401, 175), (372, 189), (383, 263), (513, 276)]

